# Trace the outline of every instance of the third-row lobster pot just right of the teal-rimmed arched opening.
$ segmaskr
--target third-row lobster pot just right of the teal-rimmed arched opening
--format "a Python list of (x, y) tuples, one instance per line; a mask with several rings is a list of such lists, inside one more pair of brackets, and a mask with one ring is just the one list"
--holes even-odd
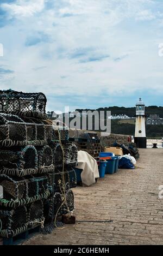
[(54, 171), (53, 151), (49, 146), (44, 146), (37, 149), (38, 152), (38, 171), (39, 173), (47, 173)]

